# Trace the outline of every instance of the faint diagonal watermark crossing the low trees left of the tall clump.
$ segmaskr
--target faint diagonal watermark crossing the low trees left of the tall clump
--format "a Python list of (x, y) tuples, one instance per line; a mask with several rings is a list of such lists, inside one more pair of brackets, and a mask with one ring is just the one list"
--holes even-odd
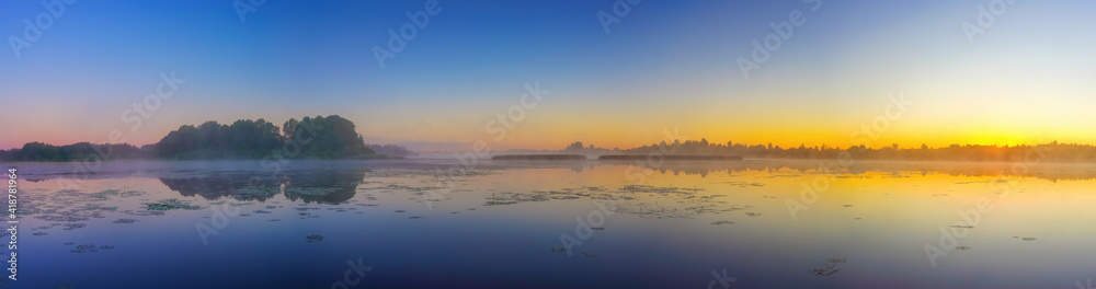
[[(153, 93), (146, 94), (140, 102), (134, 102), (129, 107), (122, 111), (122, 124), (128, 125), (129, 131), (137, 131), (141, 124), (152, 117), (152, 113), (160, 109), (164, 100), (171, 99), (179, 92), (185, 79), (175, 77), (175, 71), (170, 73), (160, 72), (160, 82), (156, 84)], [(112, 129), (106, 135), (106, 143), (123, 143), (126, 141), (125, 131), (121, 128)], [(105, 148), (104, 148), (105, 147)], [(92, 144), (94, 153), (88, 154), (82, 161), (76, 162), (72, 167), (72, 175), (91, 173), (102, 165), (103, 160), (109, 160), (114, 155), (114, 147)], [(60, 178), (57, 184), (62, 189), (71, 189), (80, 186), (79, 178)]]

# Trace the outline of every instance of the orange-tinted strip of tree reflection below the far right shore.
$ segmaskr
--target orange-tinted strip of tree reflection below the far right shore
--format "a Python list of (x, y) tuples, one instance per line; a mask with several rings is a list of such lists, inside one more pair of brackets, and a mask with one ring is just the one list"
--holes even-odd
[(746, 161), (746, 162), (722, 162), (722, 161), (665, 161), (655, 166), (659, 162), (636, 162), (636, 161), (612, 161), (602, 163), (636, 165), (642, 169), (650, 169), (662, 174), (674, 175), (700, 175), (709, 174), (740, 174), (747, 171), (761, 171), (770, 174), (813, 174), (813, 173), (837, 173), (837, 174), (865, 174), (865, 173), (920, 173), (925, 174), (948, 174), (952, 176), (1000, 176), (1000, 177), (1037, 177), (1049, 181), (1071, 181), (1071, 180), (1093, 180), (1096, 178), (1096, 166), (1091, 164), (1040, 164), (1027, 165), (1028, 171), (1014, 170), (1014, 166), (1021, 163), (985, 163), (985, 162), (883, 162), (883, 161), (854, 161), (853, 165), (842, 167), (835, 160), (818, 161)]

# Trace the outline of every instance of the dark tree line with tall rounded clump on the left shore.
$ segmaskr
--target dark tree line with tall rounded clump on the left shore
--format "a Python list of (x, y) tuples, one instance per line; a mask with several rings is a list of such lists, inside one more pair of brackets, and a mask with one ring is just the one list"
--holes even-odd
[[(383, 146), (386, 151), (411, 152), (398, 146)], [(232, 124), (205, 122), (184, 125), (168, 132), (160, 141), (142, 147), (129, 143), (93, 144), (78, 142), (54, 146), (28, 142), (22, 148), (0, 150), (3, 161), (73, 161), (98, 158), (216, 160), (260, 159), (272, 153), (294, 154), (306, 159), (373, 158), (377, 152), (365, 146), (353, 122), (327, 117), (290, 118), (281, 127), (265, 119), (240, 119)]]

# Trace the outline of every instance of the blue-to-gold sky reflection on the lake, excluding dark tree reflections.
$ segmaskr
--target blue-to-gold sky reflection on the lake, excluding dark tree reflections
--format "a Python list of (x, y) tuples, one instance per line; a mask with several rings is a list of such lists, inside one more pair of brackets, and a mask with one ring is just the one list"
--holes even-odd
[[(148, 195), (95, 201), (117, 206), (117, 211), (104, 212), (106, 218), (81, 221), (88, 227), (78, 230), (64, 231), (56, 227), (41, 230), (49, 233), (43, 236), (30, 235), (34, 232), (30, 228), (48, 222), (33, 216), (24, 217), (21, 226), (27, 229), (20, 233), (26, 239), (22, 243), (25, 246), (21, 246), (24, 251), (20, 253), (37, 257), (27, 257), (20, 265), (28, 271), (48, 270), (54, 273), (52, 276), (68, 279), (27, 275), (20, 281), (35, 288), (48, 288), (56, 286), (55, 282), (72, 282), (80, 288), (103, 288), (102, 285), (107, 284), (114, 285), (112, 288), (141, 287), (138, 286), (141, 284), (165, 286), (158, 288), (286, 285), (311, 288), (327, 287), (338, 280), (346, 268), (345, 261), (357, 257), (375, 267), (365, 278), (369, 288), (442, 284), (511, 288), (677, 288), (707, 284), (712, 269), (724, 267), (729, 275), (739, 277), (739, 288), (886, 287), (886, 284), (970, 288), (971, 285), (990, 286), (993, 282), (996, 284), (992, 287), (1000, 288), (1043, 288), (1070, 285), (1077, 276), (1092, 274), (1086, 265), (1094, 255), (1087, 250), (1091, 243), (1086, 240), (1092, 239), (1096, 228), (1091, 223), (1093, 213), (1086, 204), (1096, 201), (1088, 194), (1094, 181), (1017, 178), (1009, 195), (1001, 197), (987, 183), (1000, 176), (935, 173), (948, 170), (938, 165), (912, 164), (929, 171), (924, 175), (871, 169), (863, 174), (838, 175), (829, 189), (819, 193), (817, 201), (798, 213), (797, 220), (788, 215), (786, 201), (800, 199), (800, 184), (813, 182), (820, 176), (818, 174), (792, 170), (742, 170), (704, 176), (652, 173), (643, 178), (643, 185), (685, 189), (669, 194), (610, 194), (598, 192), (638, 184), (639, 181), (627, 180), (626, 166), (595, 165), (581, 172), (544, 163), (527, 169), (493, 166), (495, 170), (491, 174), (455, 178), (453, 193), (434, 203), (431, 210), (418, 192), (387, 189), (383, 185), (435, 186), (434, 177), (420, 174), (422, 171), (414, 172), (416, 170), (408, 174), (408, 166), (380, 165), (373, 167), (364, 178), (378, 183), (358, 186), (347, 203), (300, 206), (304, 203), (277, 195), (267, 201), (250, 201), (237, 207), (251, 216), (230, 218), (218, 234), (209, 238), (207, 246), (202, 244), (195, 226), (212, 223), (213, 220), (205, 217), (215, 215), (208, 207), (214, 200), (182, 197), (153, 178), (159, 173), (88, 180), (80, 192), (91, 194), (126, 187)], [(221, 169), (195, 172), (208, 176), (247, 169), (209, 167), (217, 166)], [(1048, 165), (1034, 173), (1061, 171), (1062, 167), (1065, 166)], [(743, 182), (763, 185), (738, 185)], [(58, 186), (58, 180), (21, 185), (24, 192), (35, 196), (54, 192)], [(697, 193), (689, 194), (687, 189), (694, 187)], [(566, 193), (564, 188), (575, 190)], [(515, 193), (535, 190), (551, 192), (552, 196), (581, 197), (483, 206), (492, 197), (507, 200)], [(694, 198), (688, 198), (690, 195)], [(605, 219), (602, 224), (605, 230), (593, 231), (590, 238), (582, 240), (582, 245), (574, 246), (574, 256), (550, 253), (549, 248), (561, 245), (561, 233), (576, 235), (575, 217), (585, 218), (597, 210), (592, 198), (605, 196), (635, 199), (619, 200), (623, 210)], [(715, 197), (706, 200), (705, 196)], [(169, 210), (164, 216), (122, 213), (141, 209), (141, 203), (165, 198), (180, 198), (206, 208)], [(959, 240), (959, 245), (971, 250), (951, 250), (933, 267), (923, 251), (924, 245), (937, 245), (939, 229), (961, 221), (957, 211), (975, 208), (980, 198), (990, 199), (993, 209), (983, 213), (975, 228)], [(219, 200), (243, 203), (228, 198)], [(83, 207), (84, 203), (87, 200), (71, 206)], [(364, 204), (379, 206), (362, 206)], [(265, 206), (279, 208), (266, 209)], [(701, 207), (710, 211), (739, 206), (752, 207), (690, 218), (658, 218), (684, 216), (687, 208)], [(635, 213), (633, 209), (639, 207), (665, 208), (673, 212)], [(306, 212), (320, 217), (299, 216), (301, 210), (298, 208), (317, 208)], [(339, 208), (347, 210), (333, 210)], [(259, 209), (273, 213), (253, 212)], [(458, 213), (452, 213), (454, 211)], [(761, 215), (750, 217), (745, 212)], [(412, 216), (426, 218), (410, 219)], [(117, 218), (140, 221), (111, 223)], [(282, 221), (269, 221), (274, 218)], [(734, 224), (711, 224), (715, 221), (733, 221)], [(308, 234), (322, 234), (324, 240), (306, 243), (304, 236)], [(1029, 242), (1013, 236), (1038, 240)], [(69, 253), (75, 245), (60, 245), (65, 242), (116, 247), (76, 254)], [(581, 252), (598, 256), (585, 258)], [(824, 266), (831, 257), (847, 259), (838, 265), (842, 271), (826, 278), (808, 274), (812, 268)], [(165, 269), (169, 267), (171, 270)], [(99, 269), (126, 273), (126, 277), (107, 278)], [(525, 286), (526, 282), (529, 285)]]

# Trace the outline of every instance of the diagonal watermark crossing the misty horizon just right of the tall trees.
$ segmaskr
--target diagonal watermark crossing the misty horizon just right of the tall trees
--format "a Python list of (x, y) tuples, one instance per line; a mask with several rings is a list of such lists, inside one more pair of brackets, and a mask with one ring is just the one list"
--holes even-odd
[[(487, 134), (496, 135), (493, 138), (494, 142), (501, 142), (506, 139), (506, 132), (516, 128), (517, 124), (525, 119), (526, 113), (535, 109), (544, 101), (544, 96), (551, 92), (540, 89), (539, 80), (533, 82), (533, 84), (526, 82), (524, 88), (525, 93), (517, 99), (517, 104), (511, 105), (505, 113), (495, 115), (495, 118), (489, 119), (483, 126)], [(456, 187), (454, 177), (464, 174), (464, 172), (471, 171), (479, 163), (479, 159), (486, 159), (490, 153), (491, 148), (482, 139), (472, 142), (472, 151), (454, 153), (459, 165), (448, 167), (444, 171), (437, 181), (437, 187), (441, 187), (442, 192), (430, 192), (422, 195), (423, 200), (426, 201), (426, 208), (433, 210), (434, 201), (442, 200)]]

